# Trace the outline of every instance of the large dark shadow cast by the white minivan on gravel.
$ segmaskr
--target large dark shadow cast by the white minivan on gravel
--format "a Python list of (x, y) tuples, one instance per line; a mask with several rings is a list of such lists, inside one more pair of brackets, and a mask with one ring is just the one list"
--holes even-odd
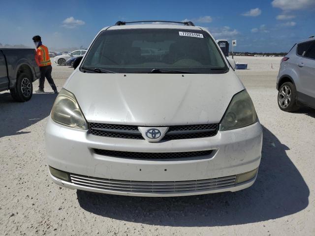
[(254, 185), (235, 193), (178, 198), (126, 197), (77, 191), (80, 206), (118, 220), (162, 226), (225, 226), (294, 214), (309, 204), (309, 188), (286, 155), (289, 148), (263, 127)]

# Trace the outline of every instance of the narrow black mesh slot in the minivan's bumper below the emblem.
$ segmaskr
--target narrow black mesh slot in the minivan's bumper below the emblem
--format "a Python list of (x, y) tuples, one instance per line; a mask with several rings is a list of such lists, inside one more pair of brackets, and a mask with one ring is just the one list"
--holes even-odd
[(165, 160), (176, 158), (188, 158), (188, 157), (200, 157), (207, 156), (212, 153), (213, 150), (205, 151), (187, 151), (187, 152), (132, 152), (132, 151), (113, 151), (94, 149), (94, 152), (99, 155), (113, 156), (119, 158), (129, 159), (150, 159), (150, 160)]

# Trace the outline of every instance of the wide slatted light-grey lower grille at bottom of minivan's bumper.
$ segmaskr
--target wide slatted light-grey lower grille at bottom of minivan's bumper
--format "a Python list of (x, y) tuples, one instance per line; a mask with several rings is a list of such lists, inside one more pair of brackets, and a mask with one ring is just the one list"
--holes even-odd
[(76, 174), (70, 174), (70, 177), (71, 182), (77, 186), (116, 192), (157, 194), (203, 192), (232, 187), (236, 179), (235, 175), (188, 181), (133, 181), (87, 177)]

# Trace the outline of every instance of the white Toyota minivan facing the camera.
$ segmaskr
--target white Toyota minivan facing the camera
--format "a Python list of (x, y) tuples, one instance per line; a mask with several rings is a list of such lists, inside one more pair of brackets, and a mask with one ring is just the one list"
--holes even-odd
[(53, 181), (150, 197), (250, 187), (261, 125), (210, 32), (135, 23), (102, 29), (57, 96), (46, 126)]

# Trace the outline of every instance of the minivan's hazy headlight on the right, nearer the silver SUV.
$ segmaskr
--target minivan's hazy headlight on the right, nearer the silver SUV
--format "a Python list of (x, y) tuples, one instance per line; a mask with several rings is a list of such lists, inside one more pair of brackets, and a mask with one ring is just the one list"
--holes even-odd
[(252, 99), (246, 90), (234, 95), (221, 121), (220, 131), (237, 129), (257, 121)]

